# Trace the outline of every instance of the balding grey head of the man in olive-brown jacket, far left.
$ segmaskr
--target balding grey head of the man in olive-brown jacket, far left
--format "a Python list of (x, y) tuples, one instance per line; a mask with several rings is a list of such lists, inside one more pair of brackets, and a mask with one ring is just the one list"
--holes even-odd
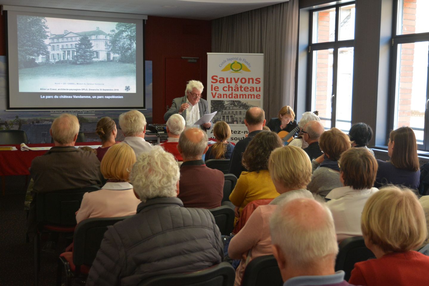
[(76, 134), (79, 133), (78, 117), (64, 113), (55, 118), (51, 125), (52, 138), (60, 144), (73, 143)]

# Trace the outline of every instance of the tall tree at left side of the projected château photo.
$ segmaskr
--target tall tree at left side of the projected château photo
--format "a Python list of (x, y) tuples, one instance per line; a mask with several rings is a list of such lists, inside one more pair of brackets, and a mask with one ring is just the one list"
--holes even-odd
[(37, 66), (35, 57), (49, 58), (48, 27), (44, 17), (18, 16), (18, 68)]

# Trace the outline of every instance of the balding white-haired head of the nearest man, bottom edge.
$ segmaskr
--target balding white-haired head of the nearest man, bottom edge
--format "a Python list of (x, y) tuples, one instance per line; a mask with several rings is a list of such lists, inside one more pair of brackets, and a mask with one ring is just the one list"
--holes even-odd
[[(308, 200), (323, 208), (325, 217), (317, 226), (314, 226), (311, 221), (308, 225), (305, 224), (313, 217), (311, 208), (309, 210), (303, 208), (299, 215), (295, 211), (287, 211), (293, 204), (305, 203)], [(318, 220), (321, 220), (320, 217)], [(278, 245), (288, 262), (296, 267), (308, 267), (328, 255), (335, 257), (338, 253), (331, 211), (325, 204), (320, 204), (313, 199), (293, 199), (279, 205), (271, 216), (270, 232), (272, 244)]]

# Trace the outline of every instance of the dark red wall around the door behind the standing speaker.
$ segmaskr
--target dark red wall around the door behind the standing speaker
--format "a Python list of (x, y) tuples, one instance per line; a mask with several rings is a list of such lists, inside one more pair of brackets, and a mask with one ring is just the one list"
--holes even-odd
[[(149, 16), (145, 27), (145, 60), (152, 61), (153, 69), (153, 121), (164, 123), (164, 58), (199, 57), (202, 70), (200, 80), (206, 86), (206, 53), (211, 51), (211, 21)], [(186, 82), (183, 87), (185, 85)]]

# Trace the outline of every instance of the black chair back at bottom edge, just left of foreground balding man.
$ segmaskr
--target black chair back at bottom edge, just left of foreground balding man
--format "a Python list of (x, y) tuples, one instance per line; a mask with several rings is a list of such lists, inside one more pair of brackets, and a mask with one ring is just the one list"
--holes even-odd
[(243, 274), (242, 286), (282, 286), (280, 269), (274, 255), (252, 259)]

